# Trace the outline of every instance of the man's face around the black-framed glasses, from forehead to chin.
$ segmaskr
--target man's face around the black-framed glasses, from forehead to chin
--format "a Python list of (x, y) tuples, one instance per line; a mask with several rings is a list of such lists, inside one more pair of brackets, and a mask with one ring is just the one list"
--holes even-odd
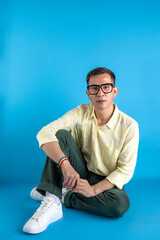
[[(99, 74), (96, 76), (90, 77), (89, 80), (89, 86), (90, 85), (101, 85), (101, 84), (106, 84), (106, 83), (114, 83), (113, 80), (111, 79), (111, 76), (108, 73), (104, 74)], [(86, 91), (89, 100), (93, 104), (95, 110), (96, 109), (107, 109), (113, 104), (113, 99), (116, 97), (118, 93), (118, 87), (113, 87), (113, 90), (111, 93), (104, 93), (102, 89), (99, 89), (99, 92), (96, 95), (91, 95), (88, 92), (88, 89)]]

